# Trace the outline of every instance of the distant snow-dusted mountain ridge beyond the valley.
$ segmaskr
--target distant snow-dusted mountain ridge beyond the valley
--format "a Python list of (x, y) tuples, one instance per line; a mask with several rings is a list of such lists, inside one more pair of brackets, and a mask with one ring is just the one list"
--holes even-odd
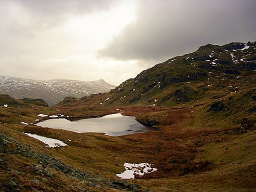
[(43, 99), (50, 106), (62, 101), (65, 97), (81, 98), (92, 93), (109, 92), (115, 87), (103, 79), (90, 82), (67, 79), (39, 81), (0, 75), (0, 93), (8, 94), (15, 99)]

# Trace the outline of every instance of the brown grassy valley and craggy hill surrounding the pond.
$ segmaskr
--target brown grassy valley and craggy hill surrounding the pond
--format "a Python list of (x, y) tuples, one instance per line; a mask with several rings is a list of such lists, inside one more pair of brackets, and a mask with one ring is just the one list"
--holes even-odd
[[(208, 44), (144, 70), (108, 93), (66, 97), (52, 107), (1, 94), (0, 188), (255, 191), (255, 48), (255, 42)], [(150, 131), (111, 137), (33, 125), (51, 115), (92, 118), (117, 109)], [(68, 146), (45, 148), (24, 133)], [(124, 163), (150, 163), (157, 171), (122, 180), (116, 174), (125, 171)]]

